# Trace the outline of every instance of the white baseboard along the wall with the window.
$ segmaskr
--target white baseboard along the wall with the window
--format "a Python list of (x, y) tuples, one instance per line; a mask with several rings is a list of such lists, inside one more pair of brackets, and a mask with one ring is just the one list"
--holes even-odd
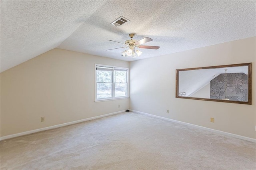
[(63, 124), (60, 124), (60, 125), (54, 125), (54, 126), (50, 126), (50, 127), (38, 128), (38, 129), (35, 129), (35, 130), (29, 130), (29, 131), (26, 131), (26, 132), (21, 132), (21, 133), (16, 133), (16, 134), (10, 134), (10, 135), (7, 135), (7, 136), (2, 136), (0, 138), (0, 140), (14, 138), (14, 137), (18, 137), (18, 136), (23, 136), (23, 135), (26, 135), (26, 134), (36, 133), (36, 132), (40, 132), (40, 131), (44, 131), (44, 130), (50, 130), (50, 129), (53, 129), (53, 128), (59, 128), (59, 127), (64, 127), (64, 126), (68, 126), (68, 125), (73, 125), (73, 124), (76, 124), (76, 123), (90, 121), (90, 120), (93, 120), (93, 119), (98, 119), (98, 118), (106, 117), (106, 116), (110, 116), (110, 115), (116, 115), (118, 113), (123, 113), (123, 112), (125, 112), (125, 110), (124, 111), (114, 112), (114, 113), (108, 113), (106, 115), (100, 115), (100, 116), (96, 116), (96, 117), (90, 117), (90, 118), (86, 118), (86, 119), (81, 119), (81, 120), (78, 120), (78, 121), (63, 123)]

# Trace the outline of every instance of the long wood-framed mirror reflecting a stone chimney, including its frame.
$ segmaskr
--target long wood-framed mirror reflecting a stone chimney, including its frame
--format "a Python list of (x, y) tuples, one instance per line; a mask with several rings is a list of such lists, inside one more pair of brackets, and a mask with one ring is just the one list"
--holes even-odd
[(252, 63), (176, 69), (176, 97), (252, 104)]

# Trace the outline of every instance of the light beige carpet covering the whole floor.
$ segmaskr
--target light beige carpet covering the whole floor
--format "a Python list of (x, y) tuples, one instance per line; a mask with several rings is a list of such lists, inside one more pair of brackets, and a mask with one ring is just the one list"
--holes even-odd
[(137, 113), (1, 141), (1, 170), (255, 170), (256, 144)]

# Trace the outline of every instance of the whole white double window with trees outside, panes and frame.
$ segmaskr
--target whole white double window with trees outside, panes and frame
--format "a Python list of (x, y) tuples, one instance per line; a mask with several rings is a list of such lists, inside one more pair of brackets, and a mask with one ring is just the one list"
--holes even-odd
[(128, 97), (128, 68), (96, 64), (95, 101)]

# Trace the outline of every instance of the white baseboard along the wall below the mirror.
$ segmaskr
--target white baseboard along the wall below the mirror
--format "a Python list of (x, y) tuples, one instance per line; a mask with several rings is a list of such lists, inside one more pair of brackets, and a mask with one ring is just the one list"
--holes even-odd
[(144, 112), (140, 112), (140, 111), (134, 111), (134, 110), (130, 110), (134, 113), (140, 113), (140, 114), (143, 114), (143, 115), (148, 115), (148, 116), (151, 116), (151, 117), (156, 117), (156, 118), (159, 118), (159, 119), (164, 119), (166, 121), (171, 121), (171, 122), (175, 122), (175, 123), (180, 123), (182, 125), (188, 125), (188, 126), (191, 126), (191, 127), (195, 127), (195, 128), (200, 128), (200, 129), (203, 129), (203, 130), (208, 130), (210, 132), (215, 132), (215, 133), (218, 133), (218, 134), (224, 134), (226, 136), (231, 136), (231, 137), (234, 137), (234, 138), (239, 138), (239, 139), (243, 139), (243, 140), (248, 140), (250, 142), (255, 142), (256, 143), (256, 139), (254, 138), (248, 138), (246, 136), (240, 136), (238, 134), (233, 134), (233, 133), (228, 133), (228, 132), (223, 132), (223, 131), (220, 131), (220, 130), (215, 130), (215, 129), (212, 129), (212, 128), (206, 128), (206, 127), (201, 127), (201, 126), (198, 126), (198, 125), (193, 125), (193, 124), (190, 124), (190, 123), (185, 123), (185, 122), (181, 122), (181, 121), (176, 121), (176, 120), (173, 120), (173, 119), (169, 119), (169, 118), (165, 118), (165, 117), (160, 117), (160, 116), (156, 116), (156, 115), (151, 115), (151, 114), (148, 114), (148, 113), (144, 113)]

